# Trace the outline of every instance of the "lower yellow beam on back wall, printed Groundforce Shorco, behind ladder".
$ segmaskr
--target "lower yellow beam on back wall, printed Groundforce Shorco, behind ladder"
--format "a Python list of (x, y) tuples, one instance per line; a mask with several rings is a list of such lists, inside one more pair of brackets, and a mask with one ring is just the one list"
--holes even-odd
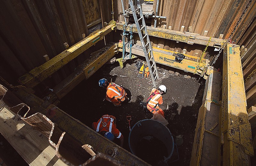
[[(123, 44), (121, 42), (119, 42), (118, 47), (119, 47), (119, 51), (123, 50), (122, 49)], [(164, 64), (164, 65), (174, 67), (176, 69), (180, 69), (186, 72), (198, 74), (200, 76), (204, 75), (204, 72), (208, 66), (208, 62), (209, 62), (208, 59), (202, 58), (202, 62), (199, 63), (200, 57), (194, 57), (191, 55), (183, 54), (185, 55), (185, 58), (179, 63), (175, 61), (175, 54), (179, 52), (170, 51), (167, 49), (160, 49), (157, 47), (152, 47), (152, 48), (153, 48), (155, 62), (159, 64)], [(136, 45), (132, 46), (132, 54), (144, 57), (143, 50), (137, 48)]]

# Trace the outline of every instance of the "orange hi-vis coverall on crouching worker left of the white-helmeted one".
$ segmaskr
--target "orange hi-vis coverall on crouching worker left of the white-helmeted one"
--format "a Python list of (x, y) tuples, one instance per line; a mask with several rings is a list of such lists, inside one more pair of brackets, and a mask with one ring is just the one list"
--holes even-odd
[(126, 92), (124, 88), (115, 84), (114, 82), (109, 83), (107, 87), (106, 99), (112, 102), (115, 106), (119, 106), (126, 98)]

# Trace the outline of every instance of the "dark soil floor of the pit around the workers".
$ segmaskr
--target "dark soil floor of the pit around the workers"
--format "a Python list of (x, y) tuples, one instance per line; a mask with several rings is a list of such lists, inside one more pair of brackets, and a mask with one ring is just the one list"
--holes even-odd
[[(124, 149), (130, 151), (128, 145), (130, 131), (126, 116), (132, 116), (131, 128), (136, 122), (150, 119), (153, 116), (149, 111), (143, 111), (138, 104), (140, 100), (147, 100), (153, 88), (150, 77), (143, 79), (138, 77), (138, 70), (135, 65), (138, 61), (145, 61), (145, 59), (137, 58), (126, 61), (124, 69), (121, 69), (117, 62), (105, 64), (89, 79), (82, 81), (69, 92), (61, 100), (58, 107), (90, 127), (104, 114), (115, 116), (117, 128), (124, 135)], [(203, 79), (199, 81), (199, 77), (196, 75), (191, 75), (192, 78), (188, 79), (182, 74), (175, 75), (162, 68), (159, 68), (158, 72), (161, 79), (157, 80), (156, 85), (164, 84), (167, 87), (162, 107), (166, 109), (167, 105), (169, 106), (169, 110), (165, 112), (165, 118), (169, 122), (167, 127), (173, 137), (183, 136), (183, 144), (178, 147), (180, 159), (172, 162), (177, 159), (177, 153), (174, 152), (168, 164), (189, 165), (196, 128), (195, 117), (197, 117), (198, 110), (202, 105), (205, 81)], [(99, 87), (98, 83), (99, 79), (102, 78), (109, 81), (112, 79), (112, 82), (123, 85), (127, 94), (132, 96), (131, 101), (123, 102), (120, 107), (103, 101), (106, 96), (106, 89)], [(172, 113), (176, 114), (173, 120), (171, 120)], [(193, 116), (195, 114), (196, 116)]]

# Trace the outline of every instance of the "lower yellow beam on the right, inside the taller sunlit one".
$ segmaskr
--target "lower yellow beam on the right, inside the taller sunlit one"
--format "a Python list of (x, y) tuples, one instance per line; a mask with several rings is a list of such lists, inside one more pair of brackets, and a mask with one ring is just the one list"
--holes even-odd
[[(197, 117), (190, 166), (220, 165), (220, 79), (221, 73), (207, 68), (203, 105)], [(211, 150), (210, 150), (211, 149)]]

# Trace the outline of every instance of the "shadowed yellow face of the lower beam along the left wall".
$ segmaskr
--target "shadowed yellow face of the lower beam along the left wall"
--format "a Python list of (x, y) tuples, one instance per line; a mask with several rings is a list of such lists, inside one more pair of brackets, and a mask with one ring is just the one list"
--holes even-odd
[(118, 53), (117, 44), (114, 44), (106, 52), (100, 55), (97, 59), (93, 60), (88, 66), (84, 68), (85, 78), (88, 79), (95, 73), (103, 64), (105, 64), (111, 57)]

